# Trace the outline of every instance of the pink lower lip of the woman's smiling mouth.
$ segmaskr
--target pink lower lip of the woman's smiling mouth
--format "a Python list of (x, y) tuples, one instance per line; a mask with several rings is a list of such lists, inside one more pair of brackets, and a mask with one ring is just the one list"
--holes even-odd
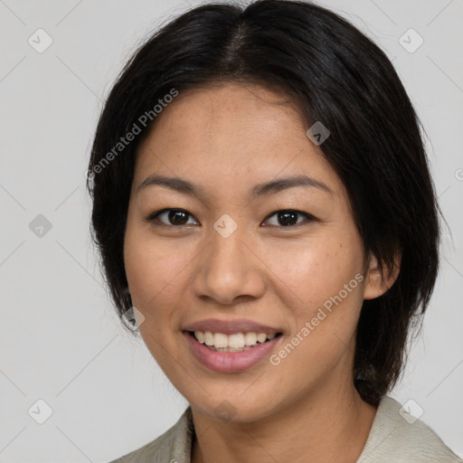
[(270, 354), (282, 337), (282, 335), (276, 336), (266, 343), (258, 344), (246, 351), (218, 352), (201, 344), (193, 335), (187, 332), (183, 334), (186, 336), (188, 345), (190, 345), (196, 359), (214, 372), (221, 373), (241, 372), (258, 364), (264, 357)]

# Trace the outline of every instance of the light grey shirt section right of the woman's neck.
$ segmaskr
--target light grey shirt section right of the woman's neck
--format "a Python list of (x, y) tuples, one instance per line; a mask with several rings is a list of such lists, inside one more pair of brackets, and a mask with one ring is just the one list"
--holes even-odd
[(372, 430), (357, 463), (462, 463), (421, 420), (402, 409), (392, 397), (380, 402)]

